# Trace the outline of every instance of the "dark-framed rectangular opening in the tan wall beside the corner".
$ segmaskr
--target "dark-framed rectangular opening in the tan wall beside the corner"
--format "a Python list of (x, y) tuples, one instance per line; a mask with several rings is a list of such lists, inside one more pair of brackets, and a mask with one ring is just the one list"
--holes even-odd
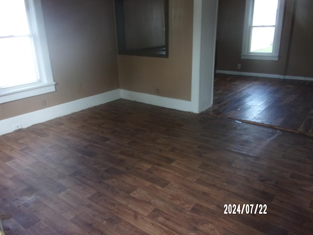
[(115, 0), (118, 53), (168, 57), (168, 0)]

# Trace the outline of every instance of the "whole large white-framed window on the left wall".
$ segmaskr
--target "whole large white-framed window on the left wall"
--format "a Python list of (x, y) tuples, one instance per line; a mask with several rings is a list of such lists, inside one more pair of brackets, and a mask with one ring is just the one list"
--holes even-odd
[(0, 103), (54, 92), (40, 0), (0, 0)]

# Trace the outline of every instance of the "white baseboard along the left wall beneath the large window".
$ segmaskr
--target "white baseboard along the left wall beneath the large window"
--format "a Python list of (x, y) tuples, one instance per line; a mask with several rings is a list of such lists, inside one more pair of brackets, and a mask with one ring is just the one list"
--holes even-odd
[(74, 100), (68, 103), (59, 104), (46, 109), (41, 109), (35, 112), (23, 114), (13, 118), (0, 120), (0, 135), (13, 132), (13, 125), (22, 124), (22, 128), (29, 127), (47, 120), (62, 117), (71, 113), (75, 113), (93, 106), (104, 104), (115, 99), (119, 99), (120, 89), (110, 92), (89, 96), (86, 98)]

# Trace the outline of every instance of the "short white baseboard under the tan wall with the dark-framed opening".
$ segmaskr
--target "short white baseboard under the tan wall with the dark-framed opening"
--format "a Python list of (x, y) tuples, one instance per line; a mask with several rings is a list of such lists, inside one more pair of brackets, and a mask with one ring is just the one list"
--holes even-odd
[(121, 90), (121, 98), (164, 108), (193, 112), (191, 101)]

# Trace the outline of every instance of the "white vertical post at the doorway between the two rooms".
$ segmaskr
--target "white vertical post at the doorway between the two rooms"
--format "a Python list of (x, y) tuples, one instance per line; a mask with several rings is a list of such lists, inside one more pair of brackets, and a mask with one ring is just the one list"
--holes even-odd
[(193, 112), (213, 104), (214, 61), (218, 0), (194, 0), (192, 59)]

